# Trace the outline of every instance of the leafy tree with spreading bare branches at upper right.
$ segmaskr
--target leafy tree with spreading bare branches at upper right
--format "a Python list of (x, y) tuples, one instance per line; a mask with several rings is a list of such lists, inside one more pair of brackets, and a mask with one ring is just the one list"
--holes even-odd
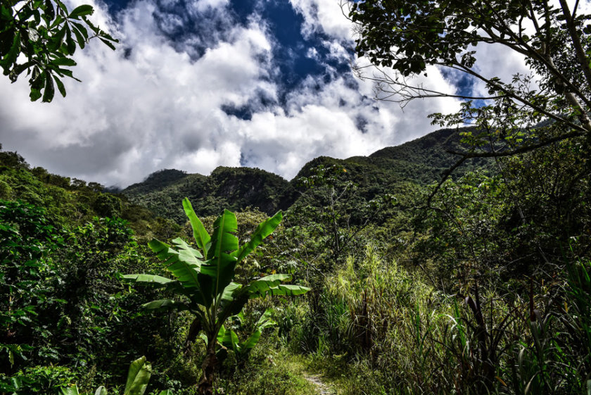
[[(473, 147), (455, 152), (511, 156), (552, 142), (586, 137), (590, 146), (591, 25), (580, 3), (558, 6), (548, 0), (367, 0), (346, 3), (357, 25), (357, 56), (377, 72), (379, 99), (402, 104), (416, 98), (463, 99), (452, 115), (434, 114), (434, 123), (474, 123), (464, 140)], [(344, 4), (343, 4), (344, 5)], [(501, 80), (478, 68), (485, 46), (521, 54), (530, 75)], [(490, 60), (485, 60), (490, 61)], [(429, 65), (484, 82), (488, 94), (449, 94), (413, 83)], [(362, 74), (363, 68), (358, 68)], [(391, 72), (391, 73), (390, 73)], [(363, 76), (363, 75), (362, 75)], [(547, 122), (547, 121), (550, 122)], [(545, 127), (540, 123), (546, 122)]]

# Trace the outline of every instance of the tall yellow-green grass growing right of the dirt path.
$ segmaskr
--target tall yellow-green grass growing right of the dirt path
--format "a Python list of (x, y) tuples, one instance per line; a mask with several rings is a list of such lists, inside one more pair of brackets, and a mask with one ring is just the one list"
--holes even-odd
[(521, 293), (475, 282), (450, 295), (370, 246), (326, 277), (314, 303), (303, 350), (380, 372), (349, 382), (351, 393), (591, 394), (588, 260)]

